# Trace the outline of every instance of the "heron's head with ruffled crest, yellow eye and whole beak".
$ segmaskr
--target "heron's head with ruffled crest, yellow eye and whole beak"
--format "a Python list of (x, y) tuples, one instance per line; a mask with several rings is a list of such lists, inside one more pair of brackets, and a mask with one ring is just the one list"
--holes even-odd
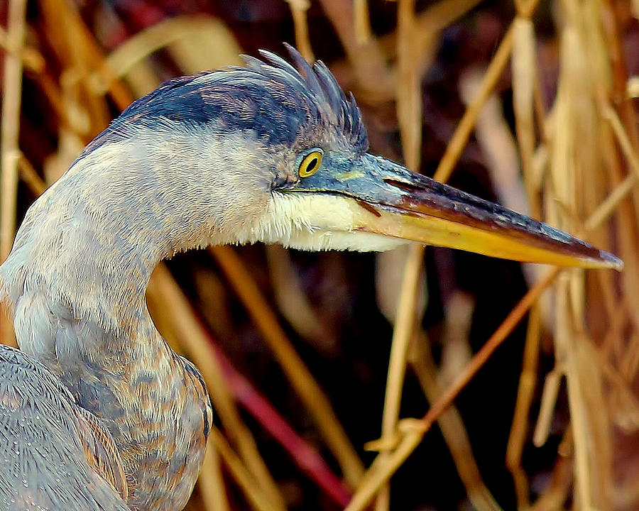
[(168, 151), (192, 155), (189, 171), (200, 174), (209, 199), (198, 210), (214, 212), (218, 242), (371, 251), (412, 241), (621, 268), (618, 258), (567, 233), (371, 155), (354, 98), (322, 62), (308, 65), (289, 49), (295, 66), (264, 51), (265, 60), (245, 57), (246, 67), (166, 82), (85, 153), (130, 137), (130, 126), (182, 133), (187, 142)]

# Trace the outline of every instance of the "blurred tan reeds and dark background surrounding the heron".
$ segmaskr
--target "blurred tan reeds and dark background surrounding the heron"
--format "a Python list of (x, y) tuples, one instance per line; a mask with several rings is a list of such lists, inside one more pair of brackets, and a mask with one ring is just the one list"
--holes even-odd
[[(0, 255), (133, 99), (295, 43), (354, 92), (373, 153), (626, 269), (441, 248), (175, 257), (149, 306), (219, 419), (187, 509), (638, 509), (638, 14), (636, 0), (0, 1)], [(13, 342), (6, 322), (1, 335)]]

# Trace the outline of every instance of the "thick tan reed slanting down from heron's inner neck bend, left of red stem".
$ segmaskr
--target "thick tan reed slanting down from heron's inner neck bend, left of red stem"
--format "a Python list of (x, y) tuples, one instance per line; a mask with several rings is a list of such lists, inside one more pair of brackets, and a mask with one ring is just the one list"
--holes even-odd
[(170, 318), (182, 346), (185, 347), (192, 361), (200, 368), (215, 410), (224, 424), (224, 431), (239, 450), (242, 460), (251, 471), (251, 475), (261, 491), (268, 498), (268, 502), (275, 509), (285, 509), (285, 502), (271, 477), (271, 473), (268, 472), (266, 463), (259, 454), (255, 440), (240, 418), (239, 411), (226, 385), (222, 368), (212, 356), (207, 334), (204, 332), (202, 324), (195, 318), (188, 300), (165, 265), (158, 265), (158, 268), (153, 272), (147, 295), (150, 300), (153, 300), (155, 307), (162, 307), (163, 312)]

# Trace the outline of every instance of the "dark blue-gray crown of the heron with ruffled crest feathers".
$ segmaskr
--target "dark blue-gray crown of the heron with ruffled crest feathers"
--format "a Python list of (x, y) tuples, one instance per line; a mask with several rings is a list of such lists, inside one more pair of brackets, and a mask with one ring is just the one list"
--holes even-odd
[(167, 120), (192, 126), (214, 123), (222, 133), (253, 131), (269, 145), (293, 145), (300, 137), (337, 131), (357, 153), (364, 153), (368, 137), (352, 94), (346, 98), (323, 62), (311, 67), (297, 50), (287, 48), (297, 69), (261, 50), (265, 60), (244, 56), (247, 67), (168, 80), (134, 101), (83, 155), (128, 138), (136, 126), (162, 128)]

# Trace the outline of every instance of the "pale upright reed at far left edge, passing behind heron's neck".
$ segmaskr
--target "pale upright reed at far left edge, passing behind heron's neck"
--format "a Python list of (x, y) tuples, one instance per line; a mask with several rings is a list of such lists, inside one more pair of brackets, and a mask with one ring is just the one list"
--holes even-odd
[[(16, 234), (18, 160), (20, 149), (20, 104), (22, 97), (22, 59), (25, 35), (26, 0), (9, 1), (2, 83), (2, 120), (0, 125), (0, 262), (11, 251)], [(5, 312), (0, 317), (0, 342), (16, 346), (11, 322)]]

